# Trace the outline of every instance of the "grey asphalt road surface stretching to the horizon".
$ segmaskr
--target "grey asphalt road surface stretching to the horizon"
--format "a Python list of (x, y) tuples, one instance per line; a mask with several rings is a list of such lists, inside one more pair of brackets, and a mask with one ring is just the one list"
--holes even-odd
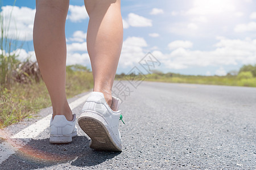
[[(143, 82), (132, 90), (121, 105), (122, 152), (92, 150), (80, 128), (72, 143), (52, 145), (47, 128), (0, 169), (256, 169), (256, 88)], [(2, 132), (14, 135), (49, 113)]]

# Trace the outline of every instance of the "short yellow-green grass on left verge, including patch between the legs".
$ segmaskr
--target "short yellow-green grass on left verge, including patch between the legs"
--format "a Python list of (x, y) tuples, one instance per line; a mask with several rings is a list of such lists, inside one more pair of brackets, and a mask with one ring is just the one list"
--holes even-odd
[[(67, 97), (73, 97), (93, 87), (91, 72), (67, 72)], [(0, 95), (0, 128), (35, 117), (42, 108), (51, 106), (47, 88), (41, 80), (27, 84), (13, 83), (11, 89), (5, 88)]]

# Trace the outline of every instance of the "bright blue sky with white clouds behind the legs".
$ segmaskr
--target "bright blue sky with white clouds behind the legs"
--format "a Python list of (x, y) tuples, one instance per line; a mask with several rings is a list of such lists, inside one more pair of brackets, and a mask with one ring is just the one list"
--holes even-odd
[[(3, 1), (7, 14), (14, 1)], [(225, 75), (256, 63), (256, 1), (121, 0), (124, 35), (117, 73), (128, 73), (147, 52), (162, 63), (158, 70), (192, 75)], [(35, 1), (18, 0), (10, 35), (25, 40), (20, 59), (31, 56)], [(89, 18), (84, 1), (70, 1), (66, 22), (67, 65), (90, 67), (86, 51)], [(17, 28), (17, 29), (15, 29)]]

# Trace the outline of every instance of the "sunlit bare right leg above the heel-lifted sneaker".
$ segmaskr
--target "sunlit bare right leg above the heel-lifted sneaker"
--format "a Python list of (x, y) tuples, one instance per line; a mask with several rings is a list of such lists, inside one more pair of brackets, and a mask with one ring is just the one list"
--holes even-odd
[(87, 48), (92, 63), (93, 91), (112, 104), (112, 86), (122, 49), (120, 0), (84, 0), (89, 15)]

